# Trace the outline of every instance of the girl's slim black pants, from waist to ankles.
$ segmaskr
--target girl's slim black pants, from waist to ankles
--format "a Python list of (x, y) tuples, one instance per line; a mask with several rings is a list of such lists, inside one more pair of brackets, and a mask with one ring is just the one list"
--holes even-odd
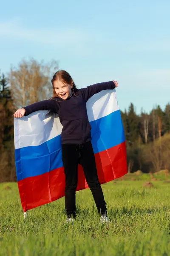
[(97, 176), (91, 141), (84, 144), (62, 144), (65, 172), (65, 209), (67, 217), (76, 216), (77, 167), (82, 165), (85, 179), (94, 197), (99, 214), (107, 214), (106, 203)]

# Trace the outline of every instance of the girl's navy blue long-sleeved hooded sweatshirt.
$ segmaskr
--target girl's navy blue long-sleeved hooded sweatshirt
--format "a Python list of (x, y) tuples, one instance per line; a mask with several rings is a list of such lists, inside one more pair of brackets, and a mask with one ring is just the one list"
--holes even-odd
[(24, 107), (25, 116), (38, 110), (50, 110), (57, 113), (63, 126), (62, 144), (83, 144), (91, 140), (91, 125), (88, 121), (86, 102), (95, 93), (114, 88), (113, 81), (90, 85), (77, 90), (76, 95), (73, 94), (65, 100), (55, 97), (28, 105)]

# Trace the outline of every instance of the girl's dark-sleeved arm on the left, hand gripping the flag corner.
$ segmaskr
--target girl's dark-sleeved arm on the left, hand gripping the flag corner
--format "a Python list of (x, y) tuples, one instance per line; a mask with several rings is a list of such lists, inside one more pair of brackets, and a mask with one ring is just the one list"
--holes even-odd
[(57, 113), (59, 110), (59, 107), (58, 107), (57, 101), (53, 99), (42, 100), (40, 102), (36, 102), (26, 107), (18, 109), (14, 113), (14, 117), (28, 116), (29, 114), (38, 110), (50, 110), (52, 112)]

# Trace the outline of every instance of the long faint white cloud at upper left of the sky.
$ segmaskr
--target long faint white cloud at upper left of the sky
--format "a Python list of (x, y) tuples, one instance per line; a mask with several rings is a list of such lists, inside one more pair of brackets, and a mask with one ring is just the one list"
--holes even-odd
[(87, 41), (88, 35), (80, 29), (30, 29), (22, 26), (18, 20), (0, 23), (0, 37), (26, 40), (33, 43), (46, 44), (52, 47), (79, 46)]

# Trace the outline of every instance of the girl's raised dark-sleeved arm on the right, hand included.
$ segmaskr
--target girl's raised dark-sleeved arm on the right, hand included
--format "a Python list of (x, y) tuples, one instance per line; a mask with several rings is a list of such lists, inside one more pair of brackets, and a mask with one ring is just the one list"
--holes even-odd
[(95, 93), (99, 93), (102, 90), (112, 90), (117, 86), (118, 86), (117, 81), (109, 81), (104, 83), (93, 84), (88, 86), (87, 88), (82, 88), (79, 90), (82, 91), (85, 97), (85, 100), (87, 102), (88, 99), (90, 99)]

